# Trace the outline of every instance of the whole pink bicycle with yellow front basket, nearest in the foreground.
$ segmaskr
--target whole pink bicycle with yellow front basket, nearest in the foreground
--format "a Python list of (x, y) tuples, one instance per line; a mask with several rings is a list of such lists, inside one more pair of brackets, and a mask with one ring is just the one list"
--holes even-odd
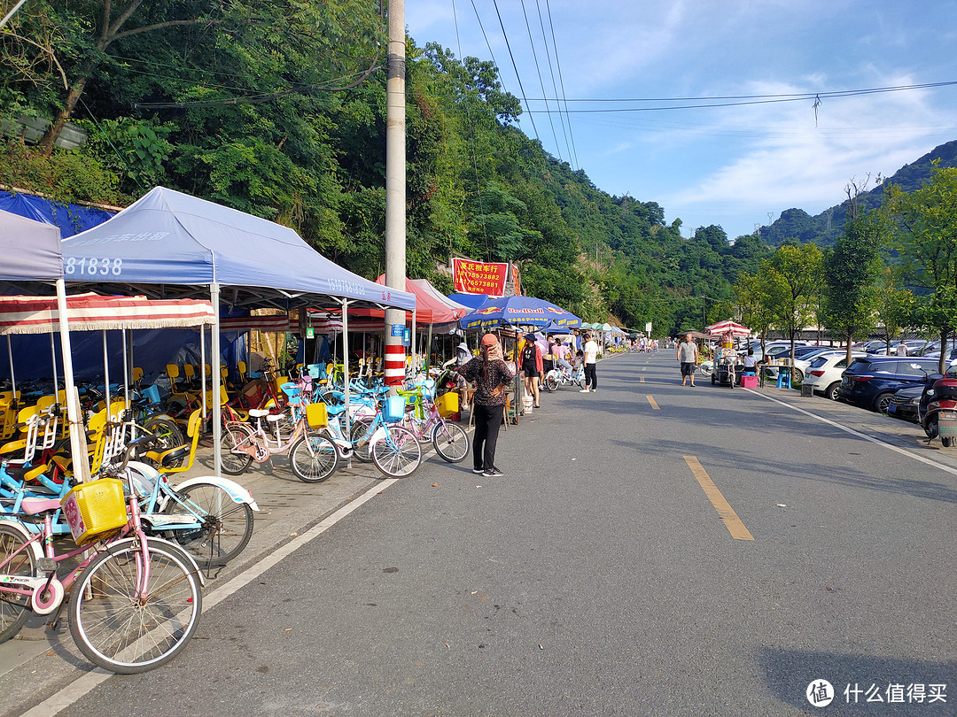
[[(22, 501), (16, 517), (39, 523), (39, 532), (18, 521), (0, 521), (0, 641), (16, 635), (31, 611), (50, 615), (60, 610), (69, 590), (70, 634), (80, 651), (104, 669), (145, 672), (168, 663), (189, 642), (202, 613), (203, 576), (181, 548), (147, 538), (131, 485), (124, 507), (119, 478), (128, 483), (126, 460), (137, 447), (139, 441), (127, 446), (121, 466), (104, 467), (102, 475), (109, 477), (82, 484), (67, 497), (65, 511), (73, 515), (78, 548), (55, 552), (57, 499)], [(86, 510), (80, 505), (85, 491), (96, 494), (91, 504), (97, 504), (99, 527), (76, 519)], [(58, 575), (60, 563), (84, 553), (89, 554), (77, 568)]]

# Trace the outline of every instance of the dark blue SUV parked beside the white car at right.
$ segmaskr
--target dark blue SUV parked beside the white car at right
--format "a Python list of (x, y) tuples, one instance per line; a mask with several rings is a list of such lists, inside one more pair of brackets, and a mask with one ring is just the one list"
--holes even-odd
[(937, 359), (860, 357), (844, 371), (838, 398), (885, 413), (896, 391), (921, 383), (927, 374), (934, 373), (937, 373)]

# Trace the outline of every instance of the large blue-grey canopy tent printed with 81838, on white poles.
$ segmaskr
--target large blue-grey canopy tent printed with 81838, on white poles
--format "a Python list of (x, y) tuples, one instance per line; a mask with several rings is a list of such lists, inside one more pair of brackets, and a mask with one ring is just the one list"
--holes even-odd
[[(162, 186), (109, 221), (65, 240), (63, 265), (66, 280), (84, 291), (153, 298), (209, 296), (214, 307), (221, 303), (286, 311), (336, 307), (343, 311), (346, 331), (350, 304), (415, 308), (412, 293), (346, 271), (291, 228)], [(218, 311), (211, 350), (218, 360)], [(219, 395), (219, 385), (216, 370), (213, 396)], [(346, 401), (347, 385), (346, 381)], [(213, 450), (219, 473), (219, 406), (214, 410)]]

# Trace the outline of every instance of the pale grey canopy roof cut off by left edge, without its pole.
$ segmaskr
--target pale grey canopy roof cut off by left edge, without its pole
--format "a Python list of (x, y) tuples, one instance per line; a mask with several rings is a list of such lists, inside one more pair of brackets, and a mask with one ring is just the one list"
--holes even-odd
[(60, 233), (53, 225), (0, 210), (0, 279), (63, 278)]

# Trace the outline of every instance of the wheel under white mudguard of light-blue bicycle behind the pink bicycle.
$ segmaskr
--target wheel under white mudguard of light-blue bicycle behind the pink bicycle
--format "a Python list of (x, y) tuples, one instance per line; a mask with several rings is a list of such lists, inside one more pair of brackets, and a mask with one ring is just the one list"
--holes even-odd
[(167, 531), (167, 540), (204, 568), (225, 565), (243, 552), (253, 537), (253, 509), (248, 503), (236, 503), (228, 490), (213, 483), (194, 483), (175, 492), (186, 505), (170, 500), (163, 512), (192, 513), (201, 525)]

